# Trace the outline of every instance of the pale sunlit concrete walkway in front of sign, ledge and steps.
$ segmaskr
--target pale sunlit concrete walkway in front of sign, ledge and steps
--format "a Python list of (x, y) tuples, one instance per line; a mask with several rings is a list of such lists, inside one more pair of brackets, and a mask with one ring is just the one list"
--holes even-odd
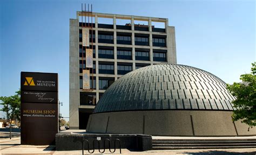
[[(69, 131), (70, 132), (70, 131)], [(156, 137), (156, 138), (167, 138), (170, 137)], [(173, 137), (171, 137), (173, 139)], [(178, 138), (178, 137), (175, 137)], [(206, 137), (201, 137), (206, 138)], [(229, 137), (231, 138), (231, 137)], [(240, 138), (240, 137), (238, 137)], [(248, 137), (247, 137), (248, 138)], [(255, 138), (253, 136), (252, 138)], [(180, 137), (184, 139), (184, 137)], [(55, 151), (55, 146), (34, 146), (34, 145), (20, 145), (20, 137), (15, 137), (12, 139), (5, 138), (0, 140), (0, 155), (10, 155), (10, 154), (82, 154), (82, 150), (78, 151)], [(92, 151), (92, 150), (91, 150)], [(101, 150), (103, 151), (103, 150)], [(113, 150), (111, 150), (113, 151)], [(88, 151), (84, 151), (85, 154), (88, 154)], [(102, 154), (98, 150), (95, 150), (93, 154)], [(109, 150), (106, 150), (104, 154), (119, 154), (119, 150), (116, 150), (115, 153), (110, 153)], [(256, 154), (256, 149), (211, 149), (211, 150), (151, 150), (144, 152), (133, 152), (127, 149), (122, 149), (122, 154)]]

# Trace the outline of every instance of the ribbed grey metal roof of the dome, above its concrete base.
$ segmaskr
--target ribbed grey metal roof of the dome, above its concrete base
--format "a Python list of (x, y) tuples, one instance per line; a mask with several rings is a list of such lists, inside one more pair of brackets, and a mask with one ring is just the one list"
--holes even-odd
[(114, 82), (94, 113), (134, 110), (233, 110), (235, 98), (209, 72), (159, 64), (131, 71)]

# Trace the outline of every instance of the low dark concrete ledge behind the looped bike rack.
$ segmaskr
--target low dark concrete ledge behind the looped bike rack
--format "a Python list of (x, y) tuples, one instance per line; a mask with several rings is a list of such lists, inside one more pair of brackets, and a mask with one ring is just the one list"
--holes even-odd
[[(97, 137), (100, 137), (99, 145)], [(145, 134), (95, 134), (86, 133), (78, 134), (72, 132), (60, 132), (56, 134), (56, 151), (82, 150), (82, 141), (89, 141), (89, 149), (93, 149), (93, 141), (95, 149), (103, 149), (104, 140), (110, 140), (110, 148), (114, 149), (114, 140), (120, 139), (122, 149), (134, 151), (152, 150), (152, 136)], [(119, 143), (116, 143), (116, 148), (119, 148)], [(88, 145), (84, 143), (84, 150), (88, 149)], [(109, 149), (109, 143), (105, 142), (105, 149)]]

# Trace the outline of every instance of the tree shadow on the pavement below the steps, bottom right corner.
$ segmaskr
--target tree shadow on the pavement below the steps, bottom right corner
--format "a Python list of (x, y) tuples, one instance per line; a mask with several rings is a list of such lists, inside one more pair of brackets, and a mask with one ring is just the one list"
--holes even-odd
[(228, 151), (201, 151), (201, 152), (183, 152), (183, 154), (192, 155), (206, 155), (206, 154), (218, 154), (218, 155), (237, 155), (237, 154), (256, 154), (256, 152), (228, 152)]

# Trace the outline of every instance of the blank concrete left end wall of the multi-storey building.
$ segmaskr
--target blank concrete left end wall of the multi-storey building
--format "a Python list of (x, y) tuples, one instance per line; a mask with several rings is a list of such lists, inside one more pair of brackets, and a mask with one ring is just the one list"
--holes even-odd
[(78, 19), (70, 19), (69, 34), (69, 122), (70, 129), (79, 127), (79, 29)]

